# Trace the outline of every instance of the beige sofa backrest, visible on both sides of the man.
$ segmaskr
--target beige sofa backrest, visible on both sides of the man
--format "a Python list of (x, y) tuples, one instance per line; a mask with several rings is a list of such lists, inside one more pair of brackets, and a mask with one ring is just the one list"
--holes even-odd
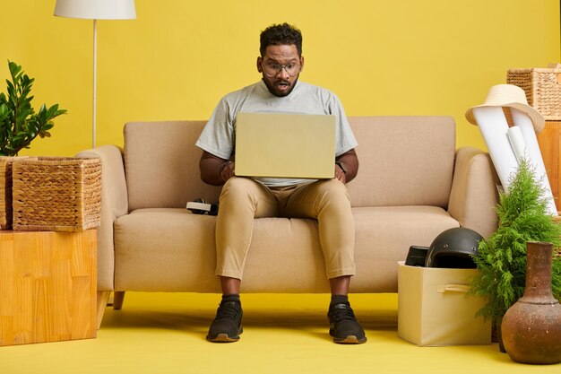
[[(452, 117), (350, 117), (358, 140), (358, 177), (349, 184), (353, 206), (446, 207), (452, 186)], [(215, 202), (220, 187), (203, 183), (194, 143), (205, 121), (125, 125), (129, 210)]]

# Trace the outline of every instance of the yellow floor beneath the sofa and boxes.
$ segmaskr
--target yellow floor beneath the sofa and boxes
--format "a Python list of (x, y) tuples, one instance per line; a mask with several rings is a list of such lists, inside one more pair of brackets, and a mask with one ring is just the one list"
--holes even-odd
[(1, 374), (89, 373), (561, 373), (561, 364), (514, 363), (496, 344), (418, 347), (397, 336), (397, 296), (350, 300), (368, 342), (333, 344), (329, 295), (242, 295), (244, 334), (234, 344), (204, 335), (220, 295), (127, 292), (107, 309), (96, 339), (0, 347)]

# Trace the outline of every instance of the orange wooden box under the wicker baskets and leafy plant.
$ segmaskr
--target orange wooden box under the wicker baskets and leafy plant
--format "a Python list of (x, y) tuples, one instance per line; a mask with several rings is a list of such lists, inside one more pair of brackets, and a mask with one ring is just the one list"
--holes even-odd
[(97, 335), (97, 232), (0, 231), (0, 346)]

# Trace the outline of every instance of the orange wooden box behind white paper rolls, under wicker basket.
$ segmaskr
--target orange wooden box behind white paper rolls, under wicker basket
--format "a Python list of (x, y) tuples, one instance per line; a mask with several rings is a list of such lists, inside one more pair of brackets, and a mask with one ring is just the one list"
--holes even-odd
[(561, 176), (561, 162), (559, 162), (561, 148), (561, 121), (546, 121), (546, 126), (538, 135), (538, 144), (541, 157), (548, 173), (551, 193), (557, 206), (557, 211), (561, 211), (559, 204), (559, 177)]

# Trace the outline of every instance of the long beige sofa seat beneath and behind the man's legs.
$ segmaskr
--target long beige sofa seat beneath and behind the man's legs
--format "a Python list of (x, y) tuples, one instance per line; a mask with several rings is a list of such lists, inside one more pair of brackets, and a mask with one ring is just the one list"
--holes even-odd
[[(353, 208), (354, 292), (397, 291), (397, 261), (411, 245), (428, 246), (458, 222), (442, 208)], [(115, 223), (117, 291), (220, 292), (215, 217), (180, 208), (138, 209)], [(329, 292), (317, 222), (255, 220), (242, 292)]]

